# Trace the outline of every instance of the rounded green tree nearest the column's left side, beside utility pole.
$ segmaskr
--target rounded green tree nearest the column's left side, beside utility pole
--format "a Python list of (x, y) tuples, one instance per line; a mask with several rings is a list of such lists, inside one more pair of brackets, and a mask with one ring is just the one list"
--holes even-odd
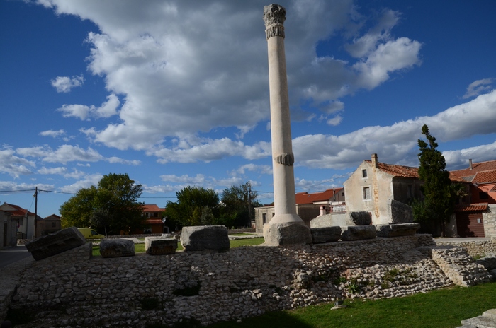
[(254, 207), (261, 206), (255, 200), (257, 196), (257, 192), (252, 190), (249, 182), (224, 189), (221, 197), (221, 221), (227, 226), (249, 226), (252, 222)]

